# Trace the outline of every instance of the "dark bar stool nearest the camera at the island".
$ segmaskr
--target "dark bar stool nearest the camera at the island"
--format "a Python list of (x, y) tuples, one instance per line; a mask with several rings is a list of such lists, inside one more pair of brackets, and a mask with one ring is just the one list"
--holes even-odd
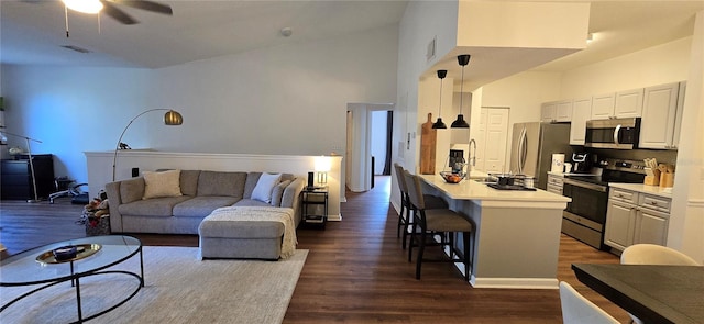
[[(474, 232), (472, 221), (450, 209), (426, 209), (421, 191), (420, 178), (408, 171), (404, 172), (406, 186), (408, 186), (408, 199), (414, 210), (413, 231), (410, 232), (410, 243), (408, 245), (408, 256), (413, 254), (413, 248), (418, 246), (416, 257), (416, 279), (420, 279), (420, 268), (424, 261), (433, 262), (462, 262), (464, 265), (464, 280), (470, 280), (470, 269), (472, 266), (470, 249), (471, 235)], [(454, 236), (462, 233), (463, 248), (460, 252), (454, 245)], [(440, 242), (433, 237), (440, 235)], [(440, 246), (441, 249), (449, 247), (449, 257), (442, 259), (425, 259), (426, 246)]]

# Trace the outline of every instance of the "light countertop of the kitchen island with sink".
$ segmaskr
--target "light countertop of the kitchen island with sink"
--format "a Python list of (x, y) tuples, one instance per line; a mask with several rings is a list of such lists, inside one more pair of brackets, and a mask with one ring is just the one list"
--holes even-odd
[(482, 178), (480, 172), (470, 172), (470, 179), (460, 183), (448, 183), (440, 175), (420, 175), (430, 186), (444, 192), (449, 198), (457, 200), (482, 200), (482, 201), (521, 201), (521, 202), (570, 202), (570, 198), (554, 194), (544, 190), (497, 190), (476, 182), (472, 179)]

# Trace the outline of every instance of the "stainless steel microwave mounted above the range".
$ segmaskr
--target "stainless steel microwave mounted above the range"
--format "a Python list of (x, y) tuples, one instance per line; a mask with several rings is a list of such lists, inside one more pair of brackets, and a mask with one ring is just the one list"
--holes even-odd
[(640, 118), (592, 120), (586, 122), (585, 147), (638, 148)]

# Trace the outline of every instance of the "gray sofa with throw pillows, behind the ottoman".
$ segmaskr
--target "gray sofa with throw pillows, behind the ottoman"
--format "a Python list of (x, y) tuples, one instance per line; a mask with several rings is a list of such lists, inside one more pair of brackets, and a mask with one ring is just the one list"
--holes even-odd
[(222, 206), (280, 206), (294, 210), (300, 223), (302, 177), (282, 174), (272, 190), (272, 201), (252, 199), (262, 172), (180, 170), (180, 195), (143, 199), (145, 178), (106, 185), (110, 226), (117, 233), (199, 234), (198, 226)]

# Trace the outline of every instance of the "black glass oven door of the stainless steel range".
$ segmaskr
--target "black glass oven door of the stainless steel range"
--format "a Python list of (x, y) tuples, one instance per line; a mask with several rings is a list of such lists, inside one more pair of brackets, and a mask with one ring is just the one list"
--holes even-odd
[(562, 194), (572, 199), (565, 211), (603, 227), (606, 223), (608, 187), (568, 178), (564, 178), (563, 183)]

